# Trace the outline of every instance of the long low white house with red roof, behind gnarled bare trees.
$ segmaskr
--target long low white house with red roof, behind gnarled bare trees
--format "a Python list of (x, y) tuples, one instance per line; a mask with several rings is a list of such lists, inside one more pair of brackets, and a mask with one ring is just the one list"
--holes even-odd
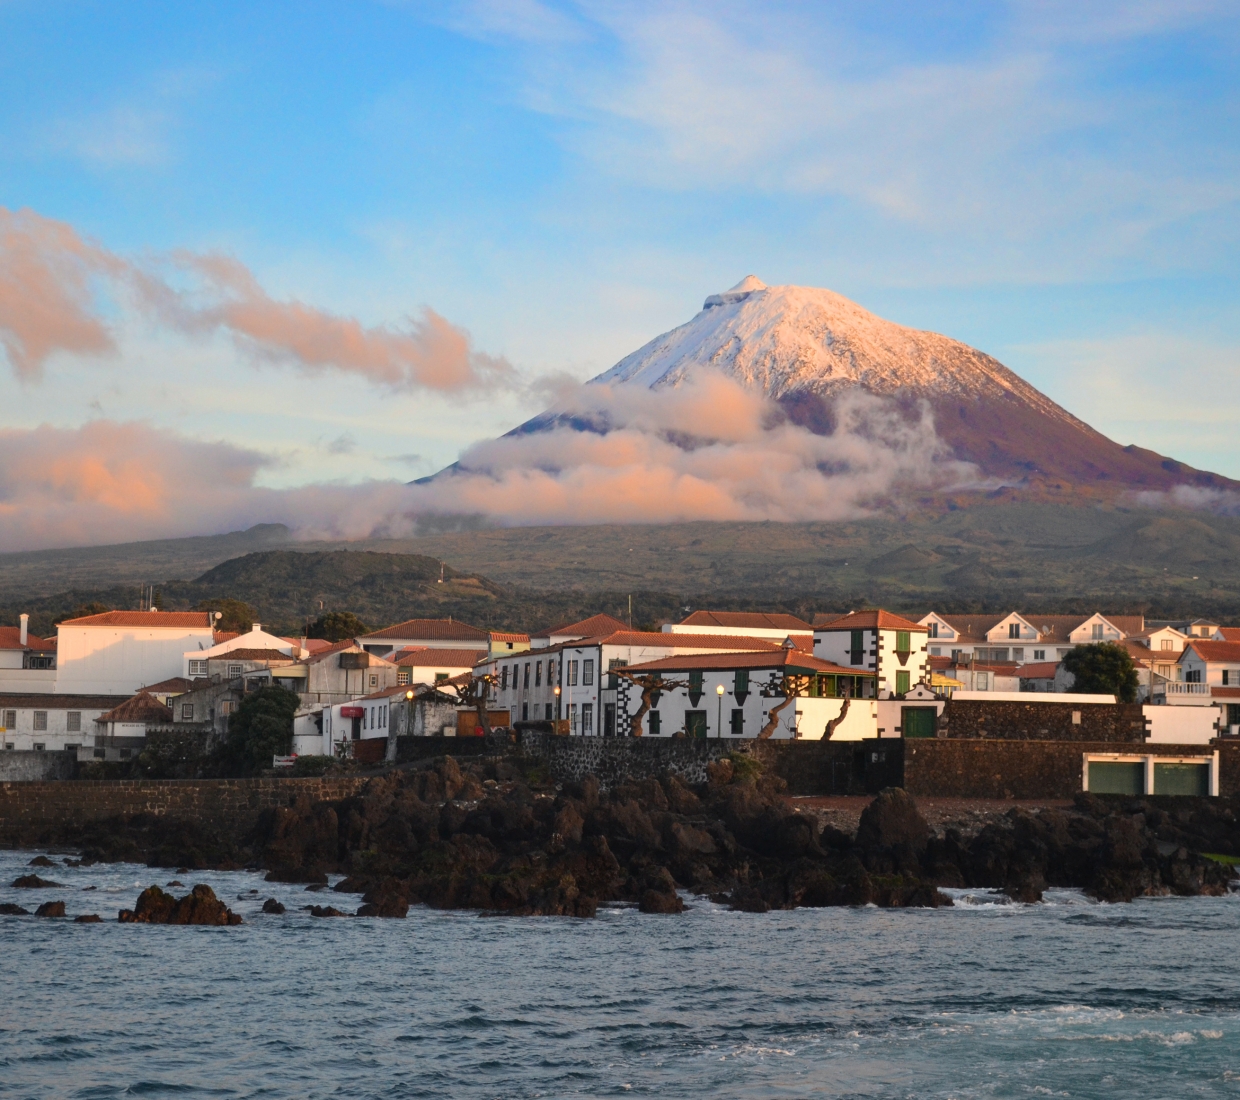
[(662, 657), (634, 665), (629, 672), (657, 675), (668, 687), (651, 697), (639, 734), (634, 722), (644, 691), (620, 678), (622, 737), (742, 740), (765, 734), (773, 740), (862, 740), (878, 734), (874, 692), (861, 690), (874, 673), (858, 673), (795, 646)]

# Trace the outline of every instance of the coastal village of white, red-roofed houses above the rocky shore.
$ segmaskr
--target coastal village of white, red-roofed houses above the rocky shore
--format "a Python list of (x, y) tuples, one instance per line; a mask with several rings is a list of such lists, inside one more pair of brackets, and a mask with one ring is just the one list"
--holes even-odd
[[(528, 634), (410, 619), (329, 642), (258, 623), (221, 631), (218, 619), (110, 610), (53, 637), (25, 615), (0, 628), (0, 778), (64, 778), (159, 738), (210, 748), (247, 693), (270, 686), (299, 701), (277, 774), (299, 758), (381, 764), (405, 738), (496, 733), (852, 743), (883, 759), (905, 742), (1122, 742), (1078, 753), (1076, 789), (1218, 794), (1219, 747), (1240, 743), (1240, 628), (1208, 620), (698, 610), (660, 630), (603, 614)], [(1106, 644), (1131, 659), (1135, 702), (1074, 690), (1064, 659)]]

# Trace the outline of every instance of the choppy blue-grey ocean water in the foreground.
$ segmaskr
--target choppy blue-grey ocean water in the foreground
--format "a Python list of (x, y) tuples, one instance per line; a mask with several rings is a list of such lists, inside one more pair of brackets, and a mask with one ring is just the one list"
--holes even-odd
[[(12, 889), (33, 854), (0, 852), (0, 902), (105, 923), (0, 916), (0, 1096), (1240, 1095), (1235, 895), (342, 920), (247, 872)], [(175, 877), (246, 923), (117, 924)]]

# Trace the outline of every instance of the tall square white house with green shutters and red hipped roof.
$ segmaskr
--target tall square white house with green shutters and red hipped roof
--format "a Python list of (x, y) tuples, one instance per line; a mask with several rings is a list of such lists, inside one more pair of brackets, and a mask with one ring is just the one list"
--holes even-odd
[(879, 698), (903, 696), (929, 680), (926, 628), (880, 609), (851, 611), (815, 626), (813, 655), (873, 672)]

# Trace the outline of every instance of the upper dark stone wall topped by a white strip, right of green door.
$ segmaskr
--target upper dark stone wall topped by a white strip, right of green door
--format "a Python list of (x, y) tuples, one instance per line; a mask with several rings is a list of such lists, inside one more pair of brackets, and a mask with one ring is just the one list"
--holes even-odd
[(1136, 703), (1048, 703), (1030, 692), (1029, 702), (952, 699), (939, 716), (939, 737), (1140, 744), (1146, 739), (1146, 719)]

